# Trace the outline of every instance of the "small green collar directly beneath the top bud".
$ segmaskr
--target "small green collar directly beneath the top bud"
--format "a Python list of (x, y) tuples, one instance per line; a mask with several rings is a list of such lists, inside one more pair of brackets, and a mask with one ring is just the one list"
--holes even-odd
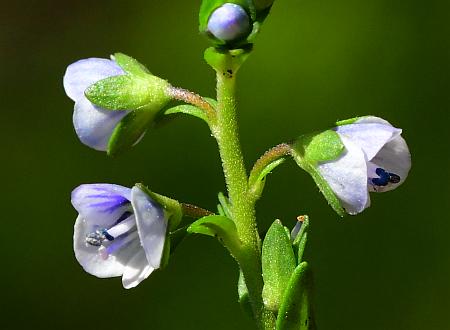
[(251, 48), (220, 50), (209, 47), (205, 50), (204, 57), (205, 61), (216, 70), (216, 72), (231, 78), (247, 60), (250, 52)]

